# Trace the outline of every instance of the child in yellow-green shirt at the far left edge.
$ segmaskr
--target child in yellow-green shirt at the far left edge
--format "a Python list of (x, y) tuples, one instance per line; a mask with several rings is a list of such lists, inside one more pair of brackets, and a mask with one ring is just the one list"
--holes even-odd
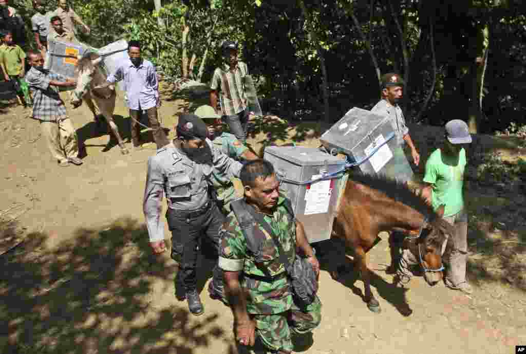
[(0, 67), (6, 82), (10, 82), (20, 102), (25, 106), (31, 106), (29, 87), (24, 80), (26, 74), (26, 54), (21, 47), (13, 42), (11, 32), (2, 34), (3, 44), (0, 46)]

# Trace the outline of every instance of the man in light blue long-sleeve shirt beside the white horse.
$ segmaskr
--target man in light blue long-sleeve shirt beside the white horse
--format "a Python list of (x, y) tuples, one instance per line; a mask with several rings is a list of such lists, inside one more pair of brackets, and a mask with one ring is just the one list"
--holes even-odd
[(130, 110), (131, 143), (134, 148), (140, 147), (139, 113), (145, 110), (157, 148), (169, 143), (157, 117), (157, 107), (160, 107), (159, 83), (155, 66), (140, 55), (140, 43), (128, 43), (129, 60), (121, 64), (114, 73), (107, 78), (107, 84), (114, 84), (120, 80), (124, 82), (126, 90), (126, 104)]

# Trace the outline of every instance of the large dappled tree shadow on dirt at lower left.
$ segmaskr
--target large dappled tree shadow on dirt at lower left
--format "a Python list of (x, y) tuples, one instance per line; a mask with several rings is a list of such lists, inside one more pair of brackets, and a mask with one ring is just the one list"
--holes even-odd
[(164, 280), (175, 265), (151, 256), (136, 220), (80, 228), (54, 250), (44, 247), (49, 237), (30, 234), (0, 257), (0, 352), (191, 354), (210, 338), (228, 341), (217, 315), (196, 321), (186, 304), (155, 308), (150, 294), (173, 286)]

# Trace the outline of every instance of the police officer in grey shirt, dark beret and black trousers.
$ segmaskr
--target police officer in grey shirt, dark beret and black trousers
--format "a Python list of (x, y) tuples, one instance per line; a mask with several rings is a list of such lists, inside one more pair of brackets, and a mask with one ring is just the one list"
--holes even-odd
[(204, 310), (196, 285), (197, 250), (203, 234), (218, 249), (224, 218), (211, 200), (210, 178), (213, 170), (238, 177), (242, 165), (214, 147), (207, 139), (205, 123), (196, 115), (181, 115), (176, 133), (177, 139), (148, 158), (143, 209), (150, 246), (160, 254), (166, 250), (164, 226), (159, 220), (163, 191), (166, 193), (171, 257), (179, 264), (176, 283), (180, 281), (184, 286), (190, 312), (201, 315)]

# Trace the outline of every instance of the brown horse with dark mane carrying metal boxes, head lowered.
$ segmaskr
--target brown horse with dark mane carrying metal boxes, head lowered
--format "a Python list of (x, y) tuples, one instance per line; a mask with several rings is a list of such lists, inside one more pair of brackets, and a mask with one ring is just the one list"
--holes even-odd
[[(372, 295), (366, 253), (381, 231), (399, 230), (416, 242), (409, 247), (424, 270), (430, 286), (442, 279), (442, 245), (452, 235), (451, 225), (406, 184), (386, 177), (353, 173), (345, 188), (333, 225), (333, 233), (355, 251), (368, 308), (380, 312)], [(451, 242), (448, 242), (450, 244)], [(448, 245), (450, 247), (451, 245)]]

